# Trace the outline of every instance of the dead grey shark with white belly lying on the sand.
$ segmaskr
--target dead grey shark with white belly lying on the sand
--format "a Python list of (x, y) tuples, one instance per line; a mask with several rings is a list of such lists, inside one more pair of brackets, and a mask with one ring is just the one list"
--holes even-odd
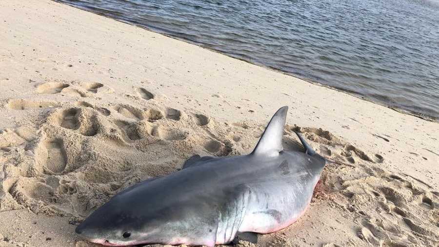
[(189, 158), (180, 171), (140, 182), (112, 197), (76, 232), (105, 246), (230, 243), (239, 232), (270, 233), (307, 209), (325, 159), (297, 133), (305, 152), (286, 152), (288, 107), (270, 120), (254, 151)]

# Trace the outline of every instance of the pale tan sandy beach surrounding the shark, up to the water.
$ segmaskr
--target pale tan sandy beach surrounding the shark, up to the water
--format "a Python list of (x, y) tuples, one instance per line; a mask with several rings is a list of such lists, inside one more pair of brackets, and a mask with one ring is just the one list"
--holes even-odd
[(193, 154), (251, 152), (281, 106), (328, 162), (298, 222), (236, 246), (438, 246), (439, 124), (49, 0), (0, 2), (0, 246), (75, 225)]

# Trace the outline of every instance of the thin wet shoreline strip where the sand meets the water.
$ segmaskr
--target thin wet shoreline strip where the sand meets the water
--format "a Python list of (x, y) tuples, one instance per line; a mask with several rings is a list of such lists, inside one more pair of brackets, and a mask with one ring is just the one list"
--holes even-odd
[(414, 112), (414, 111), (405, 110), (405, 109), (402, 109), (402, 108), (400, 108), (398, 106), (392, 106), (392, 105), (386, 104), (385, 102), (376, 101), (373, 98), (367, 97), (366, 95), (361, 95), (361, 94), (353, 92), (353, 91), (349, 91), (349, 90), (346, 90), (346, 89), (341, 89), (341, 88), (338, 88), (338, 87), (326, 85), (326, 84), (318, 82), (318, 81), (314, 81), (312, 78), (299, 76), (299, 75), (296, 75), (294, 73), (290, 73), (290, 72), (287, 72), (287, 71), (284, 71), (284, 70), (281, 70), (281, 69), (277, 69), (277, 68), (274, 68), (274, 67), (271, 67), (271, 66), (266, 66), (266, 65), (263, 65), (263, 64), (259, 64), (259, 63), (256, 63), (256, 62), (253, 62), (253, 61), (250, 61), (250, 60), (245, 60), (243, 58), (233, 57), (233, 56), (228, 55), (226, 53), (222, 53), (222, 52), (220, 52), (218, 50), (215, 50), (213, 48), (207, 47), (207, 46), (205, 46), (205, 45), (203, 45), (201, 43), (197, 43), (197, 42), (189, 40), (189, 39), (180, 38), (180, 37), (177, 37), (177, 36), (172, 36), (172, 35), (168, 35), (168, 34), (165, 34), (165, 33), (159, 32), (159, 31), (155, 31), (155, 30), (153, 30), (151, 28), (148, 28), (146, 26), (138, 25), (136, 23), (133, 23), (133, 22), (130, 22), (130, 21), (127, 21), (127, 20), (113, 19), (113, 18), (108, 17), (108, 16), (106, 16), (106, 15), (100, 13), (100, 12), (97, 12), (97, 11), (88, 10), (86, 8), (81, 8), (79, 6), (71, 5), (71, 4), (65, 3), (65, 2), (60, 2), (58, 0), (53, 0), (53, 1), (58, 2), (60, 4), (68, 5), (70, 7), (73, 7), (73, 8), (82, 10), (82, 11), (87, 11), (87, 12), (99, 15), (99, 16), (104, 17), (104, 18), (116, 20), (116, 21), (119, 21), (119, 22), (124, 23), (124, 24), (129, 24), (129, 25), (141, 28), (141, 29), (145, 29), (145, 30), (147, 30), (149, 32), (157, 33), (157, 34), (163, 35), (163, 36), (168, 37), (168, 38), (173, 38), (173, 39), (176, 39), (176, 40), (179, 40), (179, 41), (182, 41), (182, 42), (187, 42), (187, 43), (190, 43), (192, 45), (198, 46), (200, 48), (203, 48), (203, 49), (206, 49), (206, 50), (209, 50), (209, 51), (212, 51), (212, 52), (215, 52), (215, 53), (227, 56), (227, 57), (231, 57), (233, 59), (238, 59), (240, 61), (244, 61), (244, 62), (247, 62), (249, 64), (256, 65), (256, 66), (259, 66), (259, 67), (262, 67), (262, 68), (265, 68), (265, 69), (268, 69), (268, 70), (271, 70), (271, 71), (274, 71), (274, 72), (278, 72), (278, 73), (281, 73), (281, 74), (284, 74), (284, 75), (287, 75), (287, 76), (293, 76), (293, 77), (299, 78), (301, 80), (304, 80), (304, 81), (306, 81), (308, 83), (312, 83), (312, 84), (320, 86), (320, 87), (325, 87), (325, 88), (329, 88), (329, 89), (332, 89), (332, 90), (336, 90), (338, 92), (345, 93), (347, 95), (351, 95), (351, 96), (357, 97), (357, 98), (359, 98), (361, 100), (365, 100), (365, 101), (368, 101), (368, 102), (371, 102), (371, 103), (374, 103), (374, 104), (377, 104), (377, 105), (380, 105), (380, 106), (387, 107), (387, 108), (389, 108), (391, 110), (394, 110), (396, 112), (399, 112), (401, 114), (407, 114), (407, 115), (411, 115), (411, 116), (416, 116), (416, 117), (419, 117), (420, 119), (423, 119), (423, 120), (426, 120), (426, 121), (439, 123), (439, 118), (437, 118), (437, 117), (425, 115), (425, 114)]

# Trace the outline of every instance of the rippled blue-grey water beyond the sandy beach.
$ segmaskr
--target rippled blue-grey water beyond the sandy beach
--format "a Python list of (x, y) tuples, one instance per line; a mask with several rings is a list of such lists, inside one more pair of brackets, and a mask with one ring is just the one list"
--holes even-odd
[(59, 1), (439, 119), (439, 0)]

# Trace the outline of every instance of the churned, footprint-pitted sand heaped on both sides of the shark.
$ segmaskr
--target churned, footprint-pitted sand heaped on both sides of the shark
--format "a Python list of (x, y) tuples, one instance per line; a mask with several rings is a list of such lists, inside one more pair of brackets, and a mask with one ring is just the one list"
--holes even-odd
[[(115, 93), (101, 83), (48, 81), (38, 83), (35, 92), (44, 100), (9, 98), (2, 104), (2, 110), (29, 118), (0, 133), (0, 211), (28, 209), (49, 226), (47, 219), (66, 218), (73, 225), (69, 229), (121, 190), (178, 171), (193, 154), (251, 152), (265, 124), (219, 122), (170, 108), (165, 97), (147, 88)], [(59, 95), (77, 101), (60, 101)], [(437, 244), (437, 191), (381, 168), (386, 162), (381, 154), (364, 152), (322, 129), (299, 127), (292, 119), (287, 123), (285, 150), (301, 148), (297, 131), (330, 162), (305, 216), (288, 228), (257, 236), (254, 243), (237, 241), (237, 246)], [(61, 224), (52, 233), (61, 240), (75, 239), (72, 245), (89, 245), (62, 228), (67, 227)], [(1, 245), (25, 244), (21, 234), (26, 233), (1, 229)]]

